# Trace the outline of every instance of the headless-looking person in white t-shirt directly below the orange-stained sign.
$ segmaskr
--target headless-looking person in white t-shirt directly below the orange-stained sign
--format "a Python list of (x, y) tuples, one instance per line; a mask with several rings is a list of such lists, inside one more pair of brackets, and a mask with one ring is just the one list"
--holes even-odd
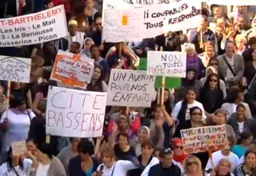
[[(232, 146), (234, 146), (233, 138), (228, 138), (228, 141), (229, 141), (230, 148), (232, 148)], [(214, 163), (214, 166), (217, 166), (222, 158), (226, 158), (230, 161), (232, 172), (239, 164), (238, 156), (236, 154), (234, 154), (233, 152), (231, 152), (229, 148), (218, 150), (212, 154), (212, 162)], [(206, 165), (206, 171), (213, 169), (212, 168), (213, 166), (211, 164), (212, 162), (210, 161), (210, 158), (209, 158), (207, 165)]]

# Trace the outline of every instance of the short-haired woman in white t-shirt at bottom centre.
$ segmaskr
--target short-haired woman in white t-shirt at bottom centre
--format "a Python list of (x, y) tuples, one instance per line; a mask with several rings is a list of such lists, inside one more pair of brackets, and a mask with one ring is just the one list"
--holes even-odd
[(119, 160), (115, 162), (115, 154), (112, 146), (106, 146), (102, 152), (102, 164), (92, 176), (121, 176), (126, 175), (128, 170), (137, 168), (133, 162)]

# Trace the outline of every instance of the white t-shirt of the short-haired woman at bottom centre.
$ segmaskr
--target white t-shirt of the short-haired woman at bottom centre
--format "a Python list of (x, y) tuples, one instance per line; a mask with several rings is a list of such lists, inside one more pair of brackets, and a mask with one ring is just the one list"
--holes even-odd
[[(104, 165), (99, 165), (97, 170), (100, 170), (101, 166)], [(135, 168), (137, 168), (137, 166), (135, 166), (133, 162), (119, 160), (118, 162), (114, 162), (114, 165), (111, 168), (107, 168), (106, 166), (104, 166), (102, 170), (102, 176), (111, 176), (112, 170), (114, 170), (113, 176), (126, 175), (126, 172), (128, 170), (133, 170)]]

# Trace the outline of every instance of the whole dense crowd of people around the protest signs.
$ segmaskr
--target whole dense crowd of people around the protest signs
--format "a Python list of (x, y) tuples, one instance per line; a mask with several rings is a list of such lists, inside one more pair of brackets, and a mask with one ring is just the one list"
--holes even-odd
[[(1, 176), (255, 176), (256, 6), (203, 3), (197, 29), (141, 42), (102, 42), (102, 0), (0, 1), (10, 18), (64, 5), (68, 36), (34, 46), (0, 47), (0, 55), (31, 58), (30, 83), (0, 86)], [(137, 70), (148, 50), (186, 52), (186, 78), (150, 108), (107, 106), (100, 138), (50, 136), (46, 104), (58, 50), (94, 59), (86, 91), (106, 92), (111, 69)], [(90, 103), (90, 102), (89, 102)], [(229, 148), (184, 150), (180, 130), (226, 126)], [(14, 155), (12, 142), (26, 141)]]

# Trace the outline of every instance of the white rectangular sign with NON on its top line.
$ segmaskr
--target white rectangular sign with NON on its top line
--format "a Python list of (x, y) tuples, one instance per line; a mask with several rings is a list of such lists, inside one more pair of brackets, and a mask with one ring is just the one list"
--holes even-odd
[(146, 74), (186, 78), (186, 52), (148, 51)]

